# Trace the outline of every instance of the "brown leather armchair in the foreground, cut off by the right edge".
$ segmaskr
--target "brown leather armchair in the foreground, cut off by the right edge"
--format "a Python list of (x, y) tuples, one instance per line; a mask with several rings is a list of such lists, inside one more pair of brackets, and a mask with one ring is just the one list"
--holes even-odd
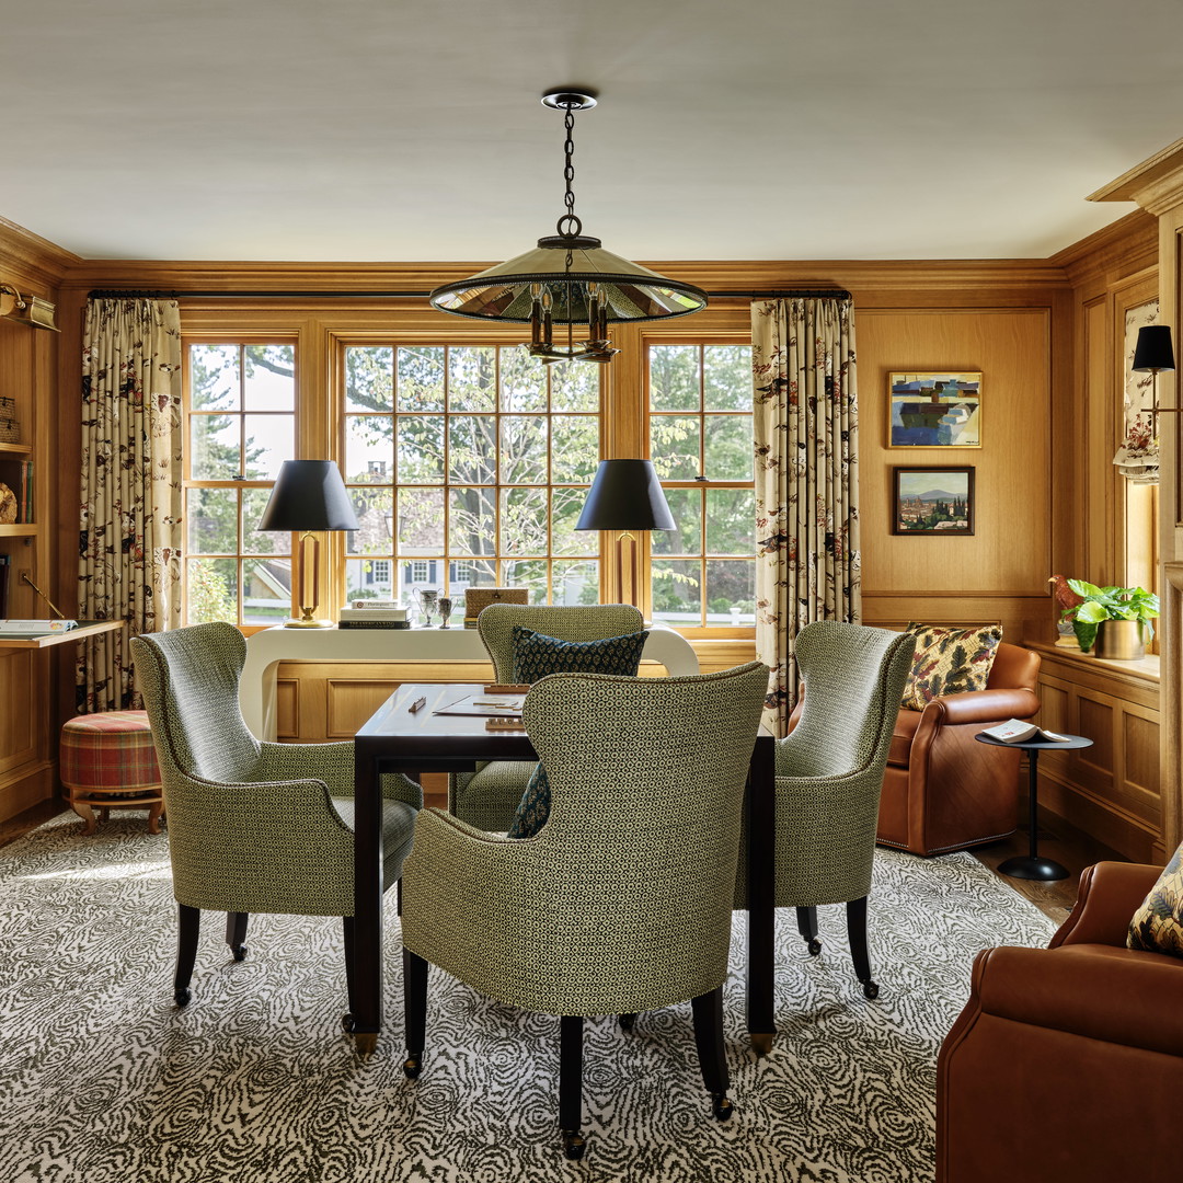
[(1183, 959), (1125, 948), (1161, 867), (1099, 862), (1048, 949), (988, 949), (937, 1061), (937, 1183), (1177, 1183)]

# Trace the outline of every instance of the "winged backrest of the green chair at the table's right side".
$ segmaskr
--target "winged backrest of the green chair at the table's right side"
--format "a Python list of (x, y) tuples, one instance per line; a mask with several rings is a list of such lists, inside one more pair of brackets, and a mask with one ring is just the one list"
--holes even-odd
[(796, 657), (806, 685), (797, 725), (781, 741), (777, 771), (843, 776), (886, 764), (916, 638), (835, 620), (806, 625)]

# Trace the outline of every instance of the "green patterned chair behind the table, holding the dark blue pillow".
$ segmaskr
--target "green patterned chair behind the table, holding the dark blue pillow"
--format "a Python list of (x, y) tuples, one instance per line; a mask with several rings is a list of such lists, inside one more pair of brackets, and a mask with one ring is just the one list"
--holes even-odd
[[(529, 628), (563, 641), (599, 641), (639, 632), (644, 618), (631, 603), (562, 605), (491, 603), (477, 618), (477, 633), (493, 664), (493, 679), (513, 681), (513, 628)], [(479, 829), (504, 833), (513, 823), (536, 765), (497, 761), (476, 772), (448, 776), (448, 812)]]

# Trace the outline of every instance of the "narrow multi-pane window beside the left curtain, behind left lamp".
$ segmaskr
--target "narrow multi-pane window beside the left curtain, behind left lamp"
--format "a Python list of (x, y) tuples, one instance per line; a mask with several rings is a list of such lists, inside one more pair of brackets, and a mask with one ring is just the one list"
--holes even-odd
[(291, 614), (291, 535), (256, 530), (296, 445), (291, 344), (189, 344), (185, 619), (273, 625)]

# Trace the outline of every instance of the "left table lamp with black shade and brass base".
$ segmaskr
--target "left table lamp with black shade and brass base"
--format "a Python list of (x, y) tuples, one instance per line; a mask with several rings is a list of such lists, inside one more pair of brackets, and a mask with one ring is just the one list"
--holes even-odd
[[(331, 620), (313, 616), (321, 586), (321, 539), (315, 531), (357, 529), (357, 515), (341, 479), (341, 470), (332, 460), (284, 460), (271, 490), (271, 500), (256, 529), (300, 535), (300, 616), (299, 620), (285, 620), (284, 625), (287, 628), (331, 628)], [(296, 574), (295, 567), (292, 574)]]

